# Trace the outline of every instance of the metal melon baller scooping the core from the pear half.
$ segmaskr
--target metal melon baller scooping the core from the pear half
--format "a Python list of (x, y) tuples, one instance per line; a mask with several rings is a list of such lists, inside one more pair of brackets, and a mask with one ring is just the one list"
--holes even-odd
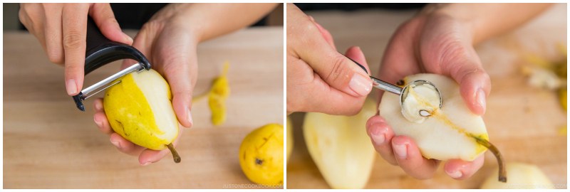
[[(348, 58), (350, 60), (352, 60), (351, 58)], [(359, 67), (361, 67), (366, 73), (368, 73), (368, 71), (366, 70), (366, 68), (364, 68), (363, 65), (361, 65), (360, 63), (352, 60), (354, 63), (356, 63), (356, 65), (358, 65)], [(415, 80), (413, 82), (408, 83), (408, 85), (405, 85), (404, 87), (398, 87), (397, 85), (392, 85), (389, 82), (385, 82), (383, 80), (380, 80), (378, 78), (374, 78), (373, 76), (369, 76), (371, 78), (372, 82), (372, 86), (379, 89), (379, 90), (384, 90), (387, 92), (392, 92), (396, 95), (400, 95), (400, 107), (402, 108), (402, 112), (404, 110), (404, 98), (408, 96), (408, 91), (410, 90), (410, 87), (415, 87), (418, 85), (431, 85), (432, 87), (435, 88), (435, 90), (437, 91), (437, 96), (440, 99), (440, 108), (442, 106), (442, 97), (441, 97), (441, 92), (440, 90), (437, 89), (437, 87), (435, 87), (435, 85), (433, 85), (432, 82), (429, 82), (427, 80)], [(426, 111), (426, 110), (420, 110), (419, 111), (420, 116), (422, 117), (430, 117), (431, 114), (430, 112)]]

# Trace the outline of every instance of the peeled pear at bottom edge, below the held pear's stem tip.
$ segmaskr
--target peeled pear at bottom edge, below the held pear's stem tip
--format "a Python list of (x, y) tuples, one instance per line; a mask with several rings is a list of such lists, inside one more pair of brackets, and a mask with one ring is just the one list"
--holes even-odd
[(509, 163), (507, 164), (507, 176), (509, 181), (501, 183), (497, 181), (497, 172), (487, 178), (481, 188), (554, 188), (552, 181), (532, 164)]

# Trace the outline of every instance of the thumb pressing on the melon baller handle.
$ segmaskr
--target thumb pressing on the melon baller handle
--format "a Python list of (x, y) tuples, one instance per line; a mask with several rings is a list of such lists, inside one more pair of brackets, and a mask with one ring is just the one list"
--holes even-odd
[(354, 97), (368, 95), (372, 90), (372, 80), (362, 68), (351, 59), (336, 52), (321, 36), (318, 29), (308, 30), (311, 38), (301, 40), (304, 42), (296, 50), (301, 60), (308, 63), (314, 72), (328, 85)]

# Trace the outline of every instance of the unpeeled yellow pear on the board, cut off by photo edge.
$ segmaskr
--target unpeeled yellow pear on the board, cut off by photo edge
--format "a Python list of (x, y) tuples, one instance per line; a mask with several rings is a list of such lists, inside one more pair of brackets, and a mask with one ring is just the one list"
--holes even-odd
[(283, 184), (283, 125), (266, 124), (247, 134), (239, 146), (239, 166), (249, 181)]

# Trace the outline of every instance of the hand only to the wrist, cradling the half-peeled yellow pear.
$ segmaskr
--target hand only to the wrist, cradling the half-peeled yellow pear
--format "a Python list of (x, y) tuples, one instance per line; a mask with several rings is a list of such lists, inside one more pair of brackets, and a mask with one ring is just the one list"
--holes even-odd
[[(197, 38), (189, 31), (189, 24), (184, 18), (177, 17), (174, 6), (169, 5), (155, 14), (150, 21), (142, 26), (135, 37), (133, 46), (146, 55), (152, 68), (157, 70), (170, 84), (172, 92), (172, 107), (174, 107), (178, 122), (183, 127), (192, 127), (192, 90), (197, 80)], [(132, 65), (131, 60), (125, 60), (122, 68)], [(154, 151), (145, 149), (124, 139), (110, 128), (103, 110), (103, 100), (94, 102), (95, 124), (101, 132), (110, 135), (110, 142), (125, 154), (138, 155), (139, 163), (147, 165), (160, 161), (170, 151)], [(178, 138), (173, 143), (177, 146), (182, 135), (182, 127)]]

